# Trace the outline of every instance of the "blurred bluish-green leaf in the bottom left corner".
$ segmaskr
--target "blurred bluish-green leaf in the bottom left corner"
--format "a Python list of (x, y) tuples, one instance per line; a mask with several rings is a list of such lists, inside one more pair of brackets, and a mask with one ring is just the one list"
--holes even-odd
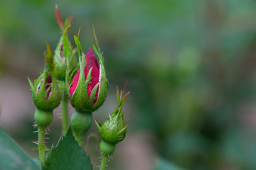
[(0, 169), (1, 170), (38, 170), (36, 162), (0, 128)]

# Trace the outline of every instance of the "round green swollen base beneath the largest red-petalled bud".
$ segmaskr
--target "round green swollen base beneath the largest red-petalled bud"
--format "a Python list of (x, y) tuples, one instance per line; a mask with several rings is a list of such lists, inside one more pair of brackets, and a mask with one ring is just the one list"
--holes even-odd
[(70, 123), (75, 134), (83, 135), (92, 125), (92, 113), (79, 113), (75, 111), (71, 115)]

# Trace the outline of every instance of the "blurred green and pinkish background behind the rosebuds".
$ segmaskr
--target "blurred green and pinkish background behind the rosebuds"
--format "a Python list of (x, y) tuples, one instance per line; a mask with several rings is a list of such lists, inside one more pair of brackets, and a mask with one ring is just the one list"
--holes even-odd
[[(91, 47), (95, 24), (110, 82), (95, 119), (114, 111), (116, 86), (128, 81), (129, 130), (110, 169), (147, 170), (159, 160), (184, 169), (256, 169), (254, 0), (0, 0), (0, 126), (31, 157), (38, 153), (27, 78), (43, 71), (46, 40), (54, 50), (60, 38), (55, 4), (63, 18), (75, 13), (73, 45), (81, 26), (82, 46)], [(49, 146), (61, 135), (59, 115), (58, 108)], [(89, 141), (96, 168), (97, 140)]]

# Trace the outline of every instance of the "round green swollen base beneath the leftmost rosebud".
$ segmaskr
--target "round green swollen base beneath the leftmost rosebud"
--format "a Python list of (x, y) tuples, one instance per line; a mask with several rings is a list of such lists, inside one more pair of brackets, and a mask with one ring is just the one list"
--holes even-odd
[(46, 128), (53, 120), (53, 111), (42, 111), (36, 108), (34, 116), (38, 128)]

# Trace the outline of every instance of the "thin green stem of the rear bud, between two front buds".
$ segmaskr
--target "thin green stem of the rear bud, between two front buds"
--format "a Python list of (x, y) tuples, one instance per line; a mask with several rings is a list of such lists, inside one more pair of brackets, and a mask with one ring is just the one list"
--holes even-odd
[(68, 98), (64, 94), (62, 100), (62, 128), (63, 128), (63, 135), (68, 130)]

